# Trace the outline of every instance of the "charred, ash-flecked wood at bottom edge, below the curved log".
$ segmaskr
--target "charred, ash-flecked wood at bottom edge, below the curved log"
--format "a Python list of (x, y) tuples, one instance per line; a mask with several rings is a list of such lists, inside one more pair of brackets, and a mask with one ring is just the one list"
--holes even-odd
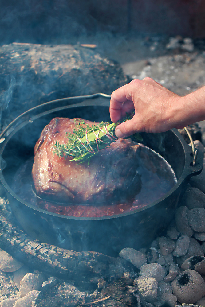
[(134, 293), (133, 279), (124, 275), (112, 281), (102, 290), (98, 289), (92, 294), (81, 292), (67, 282), (57, 278), (49, 278), (33, 302), (34, 307), (75, 307), (75, 306), (113, 306), (132, 307), (140, 306), (138, 295)]

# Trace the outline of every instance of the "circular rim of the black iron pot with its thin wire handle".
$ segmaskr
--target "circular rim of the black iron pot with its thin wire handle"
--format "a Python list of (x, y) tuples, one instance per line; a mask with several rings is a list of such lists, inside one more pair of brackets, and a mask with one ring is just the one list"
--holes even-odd
[[(5, 140), (0, 144), (1, 149), (0, 149), (0, 159), (2, 160), (2, 153), (4, 151), (4, 148), (7, 144), (7, 142), (10, 140), (10, 138), (19, 130), (21, 129), (23, 126), (26, 126), (29, 122), (33, 122), (35, 119), (44, 116), (45, 114), (49, 114), (52, 113), (54, 111), (60, 111), (63, 109), (68, 109), (68, 108), (73, 108), (73, 107), (82, 107), (82, 106), (93, 106), (96, 104), (93, 104), (91, 102), (85, 103), (84, 102), (80, 102), (80, 103), (76, 103), (76, 104), (70, 104), (70, 105), (65, 105), (63, 107), (57, 107), (54, 109), (50, 109), (49, 111), (45, 111), (45, 112), (41, 112), (37, 115), (34, 115), (32, 117), (30, 117), (29, 119), (27, 118), (26, 120), (24, 120), (23, 122), (21, 121), (20, 124), (18, 124), (18, 121), (22, 119), (23, 116), (27, 116), (29, 113), (32, 113), (32, 111), (36, 111), (37, 109), (43, 107), (43, 106), (47, 106), (50, 105), (52, 103), (59, 103), (62, 101), (66, 101), (66, 100), (71, 100), (71, 99), (91, 99), (91, 98), (96, 98), (99, 96), (104, 96), (106, 98), (110, 98), (110, 95), (106, 95), (106, 94), (101, 94), (101, 93), (97, 93), (97, 94), (93, 94), (93, 95), (86, 95), (86, 96), (76, 96), (76, 97), (69, 97), (69, 98), (62, 98), (62, 99), (56, 99), (56, 100), (52, 100), (50, 102), (47, 103), (43, 103), (37, 107), (31, 108), (30, 110), (24, 112), (23, 114), (19, 115), (16, 119), (14, 119), (14, 121), (12, 121), (5, 129), (4, 131), (0, 134), (0, 138), (2, 138), (4, 136), (4, 134), (8, 131), (8, 135), (6, 136)], [(109, 103), (101, 103), (99, 104), (99, 106), (109, 106)], [(12, 126), (14, 124), (17, 125), (13, 128), (13, 130), (10, 130), (10, 128), (12, 128)], [(99, 216), (99, 217), (76, 217), (76, 216), (66, 216), (66, 215), (61, 215), (61, 214), (57, 214), (57, 213), (53, 213), (53, 212), (49, 212), (46, 210), (43, 210), (41, 208), (38, 208), (28, 202), (26, 202), (25, 200), (23, 200), (22, 198), (20, 198), (16, 193), (14, 193), (14, 191), (10, 188), (10, 186), (7, 184), (4, 176), (3, 176), (3, 169), (0, 169), (0, 182), (3, 185), (3, 187), (5, 188), (5, 190), (7, 192), (10, 193), (11, 196), (13, 196), (18, 202), (26, 205), (27, 207), (33, 209), (34, 211), (38, 211), (41, 212), (45, 215), (50, 215), (50, 216), (56, 216), (59, 217), (61, 219), (71, 219), (71, 220), (107, 220), (107, 219), (114, 219), (114, 218), (120, 218), (120, 217), (124, 217), (124, 216), (128, 216), (128, 215), (132, 215), (135, 213), (138, 213), (140, 211), (144, 211), (145, 209), (148, 208), (152, 208), (153, 206), (159, 204), (161, 201), (165, 200), (168, 196), (170, 196), (172, 193), (174, 193), (179, 186), (182, 184), (183, 181), (185, 181), (187, 179), (187, 177), (192, 177), (194, 175), (197, 175), (201, 172), (202, 168), (203, 168), (203, 164), (199, 162), (199, 160), (201, 161), (203, 159), (203, 156), (200, 157), (200, 155), (202, 155), (201, 152), (199, 152), (199, 156), (197, 158), (197, 163), (195, 166), (191, 166), (191, 162), (193, 160), (193, 158), (191, 157), (192, 155), (192, 149), (191, 146), (189, 146), (184, 139), (182, 138), (182, 136), (179, 134), (179, 132), (177, 131), (177, 129), (171, 129), (172, 133), (175, 134), (175, 136), (179, 139), (183, 150), (184, 150), (184, 155), (185, 155), (185, 163), (184, 163), (184, 168), (183, 168), (183, 172), (179, 178), (179, 180), (176, 182), (176, 184), (162, 197), (160, 197), (158, 200), (152, 202), (151, 204), (148, 204), (144, 207), (138, 208), (136, 210), (130, 211), (130, 212), (123, 212), (123, 213), (119, 213), (116, 215), (112, 215), (112, 216)]]

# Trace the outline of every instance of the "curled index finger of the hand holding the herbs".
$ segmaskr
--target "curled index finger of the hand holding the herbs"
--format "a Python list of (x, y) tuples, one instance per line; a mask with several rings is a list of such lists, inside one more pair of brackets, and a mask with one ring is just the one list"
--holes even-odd
[(132, 101), (132, 96), (128, 91), (128, 84), (112, 93), (110, 99), (110, 118), (112, 122), (117, 122), (121, 118), (123, 104), (130, 101)]

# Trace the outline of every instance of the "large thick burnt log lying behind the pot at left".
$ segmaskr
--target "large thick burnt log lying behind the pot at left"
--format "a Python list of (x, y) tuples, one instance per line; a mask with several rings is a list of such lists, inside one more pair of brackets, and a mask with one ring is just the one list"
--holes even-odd
[(13, 43), (0, 47), (3, 126), (41, 103), (98, 92), (128, 82), (116, 62), (80, 45)]

